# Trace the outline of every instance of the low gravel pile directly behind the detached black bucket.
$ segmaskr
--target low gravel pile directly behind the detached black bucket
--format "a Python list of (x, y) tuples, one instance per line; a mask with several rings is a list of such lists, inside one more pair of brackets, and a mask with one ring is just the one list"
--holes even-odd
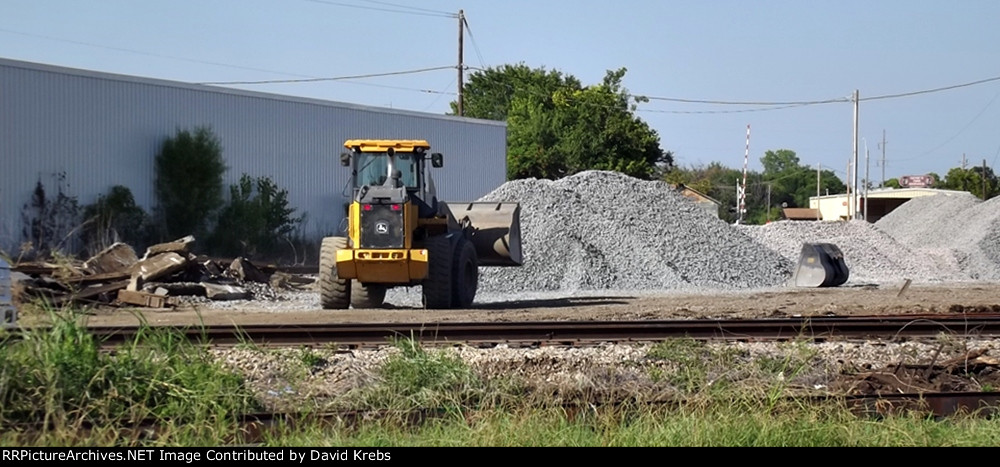
[(882, 284), (905, 279), (914, 282), (968, 279), (958, 264), (938, 261), (914, 251), (865, 221), (779, 221), (737, 228), (796, 263), (804, 243), (837, 245), (850, 271), (848, 284)]

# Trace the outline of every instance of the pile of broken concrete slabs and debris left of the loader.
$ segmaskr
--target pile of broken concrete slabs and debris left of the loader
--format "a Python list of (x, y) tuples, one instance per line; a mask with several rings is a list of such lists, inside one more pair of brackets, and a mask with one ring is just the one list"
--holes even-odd
[(274, 300), (272, 278), (291, 287), (285, 275), (268, 274), (246, 258), (228, 264), (191, 253), (194, 237), (153, 245), (142, 258), (115, 243), (81, 265), (22, 264), (12, 278), (28, 297), (52, 306), (70, 303), (170, 308), (200, 300)]

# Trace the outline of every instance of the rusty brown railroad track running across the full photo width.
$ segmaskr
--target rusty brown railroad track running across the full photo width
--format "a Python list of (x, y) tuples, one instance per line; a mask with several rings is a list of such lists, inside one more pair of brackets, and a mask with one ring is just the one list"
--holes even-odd
[[(166, 329), (218, 346), (316, 346), (342, 349), (377, 347), (411, 338), (430, 345), (563, 345), (698, 340), (896, 339), (954, 336), (1000, 336), (998, 314), (940, 314), (776, 319), (656, 321), (521, 321), (438, 323), (346, 323), (297, 325), (206, 325), (89, 327), (105, 346), (134, 341), (139, 333)], [(44, 330), (44, 328), (42, 328)], [(25, 329), (20, 330), (22, 333)], [(15, 332), (16, 335), (16, 332)]]

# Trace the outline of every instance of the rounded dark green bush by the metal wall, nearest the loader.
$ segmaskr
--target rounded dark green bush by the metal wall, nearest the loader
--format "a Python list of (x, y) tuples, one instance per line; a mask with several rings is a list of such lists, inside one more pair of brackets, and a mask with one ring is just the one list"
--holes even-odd
[(289, 207), (288, 191), (269, 177), (247, 174), (229, 187), (229, 202), (219, 214), (213, 251), (233, 256), (271, 256), (305, 220)]

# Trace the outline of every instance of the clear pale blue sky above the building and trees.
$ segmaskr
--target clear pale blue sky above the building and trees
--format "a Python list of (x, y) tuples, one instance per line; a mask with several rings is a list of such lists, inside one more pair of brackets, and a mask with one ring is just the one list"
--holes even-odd
[[(329, 78), (524, 63), (654, 98), (848, 100), (876, 184), (1000, 162), (1000, 2), (961, 0), (0, 0), (0, 57), (189, 83)], [(470, 70), (471, 72), (472, 70)], [(445, 113), (454, 68), (366, 79), (231, 85)], [(890, 98), (897, 94), (917, 93)], [(885, 97), (885, 98), (883, 98)], [(874, 100), (866, 100), (878, 98)], [(750, 168), (768, 150), (844, 178), (853, 105), (654, 99), (638, 115), (682, 165)], [(882, 145), (883, 131), (888, 144)], [(432, 142), (433, 144), (433, 142)]]

